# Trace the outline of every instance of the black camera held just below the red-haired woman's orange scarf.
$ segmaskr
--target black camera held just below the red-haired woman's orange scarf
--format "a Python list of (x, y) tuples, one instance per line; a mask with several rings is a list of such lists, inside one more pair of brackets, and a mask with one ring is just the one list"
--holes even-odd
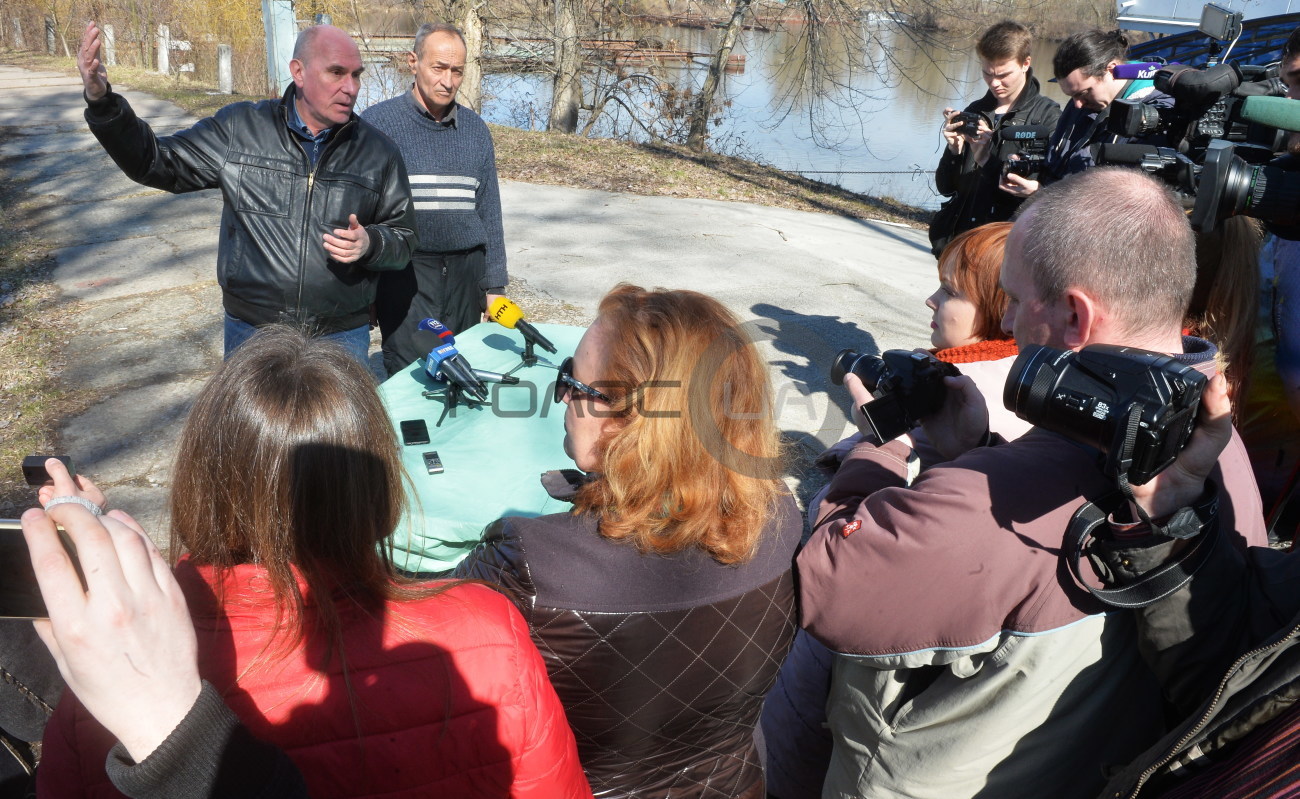
[(831, 362), (831, 382), (842, 386), (846, 374), (857, 374), (876, 398), (862, 405), (862, 414), (876, 440), (884, 443), (942, 408), (948, 396), (944, 378), (961, 373), (927, 352), (887, 349), (876, 357), (841, 349)]

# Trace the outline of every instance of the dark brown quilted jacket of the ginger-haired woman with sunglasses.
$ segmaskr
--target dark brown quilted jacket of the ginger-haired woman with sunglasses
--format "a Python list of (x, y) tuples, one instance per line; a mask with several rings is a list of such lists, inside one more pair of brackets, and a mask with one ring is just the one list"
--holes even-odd
[(597, 796), (762, 799), (763, 696), (796, 629), (789, 496), (753, 560), (641, 555), (590, 516), (494, 522), (456, 569), (515, 599)]

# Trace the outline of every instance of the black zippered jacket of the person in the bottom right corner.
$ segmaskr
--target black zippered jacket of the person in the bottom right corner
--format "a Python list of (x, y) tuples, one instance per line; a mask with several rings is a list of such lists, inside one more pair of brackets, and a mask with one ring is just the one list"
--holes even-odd
[[(1200, 503), (1206, 522), (1199, 535), (1214, 537), (1205, 542), (1213, 547), (1205, 565), (1176, 592), (1135, 611), (1143, 656), (1183, 721), (1115, 773), (1102, 796), (1158, 796), (1300, 707), (1300, 555), (1268, 547), (1243, 553), (1232, 530), (1217, 531), (1217, 504), (1214, 496)], [(1109, 585), (1127, 585), (1188, 543), (1113, 537), (1097, 543), (1093, 564)]]

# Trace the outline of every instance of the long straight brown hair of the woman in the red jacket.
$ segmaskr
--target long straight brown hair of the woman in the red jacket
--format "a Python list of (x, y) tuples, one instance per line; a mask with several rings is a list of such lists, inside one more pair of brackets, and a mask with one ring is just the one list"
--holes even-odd
[(333, 342), (265, 327), (222, 364), (186, 420), (172, 557), (188, 551), (213, 566), (218, 600), (228, 572), (260, 565), (283, 646), (320, 633), (328, 660), (342, 629), (334, 600), (373, 612), (437, 592), (396, 578), (381, 546), (402, 517), (404, 474), (365, 366)]

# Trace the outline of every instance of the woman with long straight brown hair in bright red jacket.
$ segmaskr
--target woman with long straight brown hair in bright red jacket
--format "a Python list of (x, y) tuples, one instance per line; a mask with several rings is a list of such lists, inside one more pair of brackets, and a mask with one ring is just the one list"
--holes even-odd
[[(199, 672), (312, 796), (590, 796), (515, 608), (395, 574), (380, 543), (404, 501), (398, 443), (339, 346), (283, 327), (243, 344), (200, 392), (174, 481)], [(110, 744), (65, 696), (40, 791), (120, 795)], [(212, 795), (238, 782), (240, 764), (224, 767)]]

